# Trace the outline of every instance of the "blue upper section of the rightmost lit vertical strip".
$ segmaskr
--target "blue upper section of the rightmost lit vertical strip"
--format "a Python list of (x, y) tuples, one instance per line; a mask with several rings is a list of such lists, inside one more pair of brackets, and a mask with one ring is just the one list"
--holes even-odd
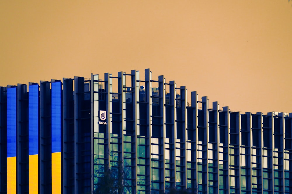
[(61, 152), (61, 91), (62, 83), (52, 83), (52, 153)]

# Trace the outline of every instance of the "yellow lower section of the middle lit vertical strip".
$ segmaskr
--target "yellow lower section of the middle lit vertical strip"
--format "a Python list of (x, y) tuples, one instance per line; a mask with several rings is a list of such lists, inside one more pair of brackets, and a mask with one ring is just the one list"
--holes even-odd
[(29, 193), (38, 194), (39, 193), (39, 163), (38, 154), (29, 155)]

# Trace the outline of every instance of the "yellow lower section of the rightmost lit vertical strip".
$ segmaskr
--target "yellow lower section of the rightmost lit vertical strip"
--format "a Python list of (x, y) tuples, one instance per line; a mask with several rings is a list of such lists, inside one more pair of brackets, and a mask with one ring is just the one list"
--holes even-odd
[(52, 193), (61, 193), (61, 152), (52, 153)]

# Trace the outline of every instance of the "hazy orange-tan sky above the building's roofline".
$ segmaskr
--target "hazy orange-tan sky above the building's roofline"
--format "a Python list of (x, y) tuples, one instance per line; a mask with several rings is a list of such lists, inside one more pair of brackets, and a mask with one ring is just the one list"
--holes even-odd
[(0, 86), (150, 68), (210, 106), (292, 112), (292, 2), (0, 1), (0, 67)]

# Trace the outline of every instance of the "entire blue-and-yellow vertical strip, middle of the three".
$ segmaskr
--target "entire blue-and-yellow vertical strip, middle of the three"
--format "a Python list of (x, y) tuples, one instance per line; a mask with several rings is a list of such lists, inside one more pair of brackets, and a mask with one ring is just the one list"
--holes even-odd
[(30, 85), (28, 93), (29, 193), (39, 193), (39, 85)]

